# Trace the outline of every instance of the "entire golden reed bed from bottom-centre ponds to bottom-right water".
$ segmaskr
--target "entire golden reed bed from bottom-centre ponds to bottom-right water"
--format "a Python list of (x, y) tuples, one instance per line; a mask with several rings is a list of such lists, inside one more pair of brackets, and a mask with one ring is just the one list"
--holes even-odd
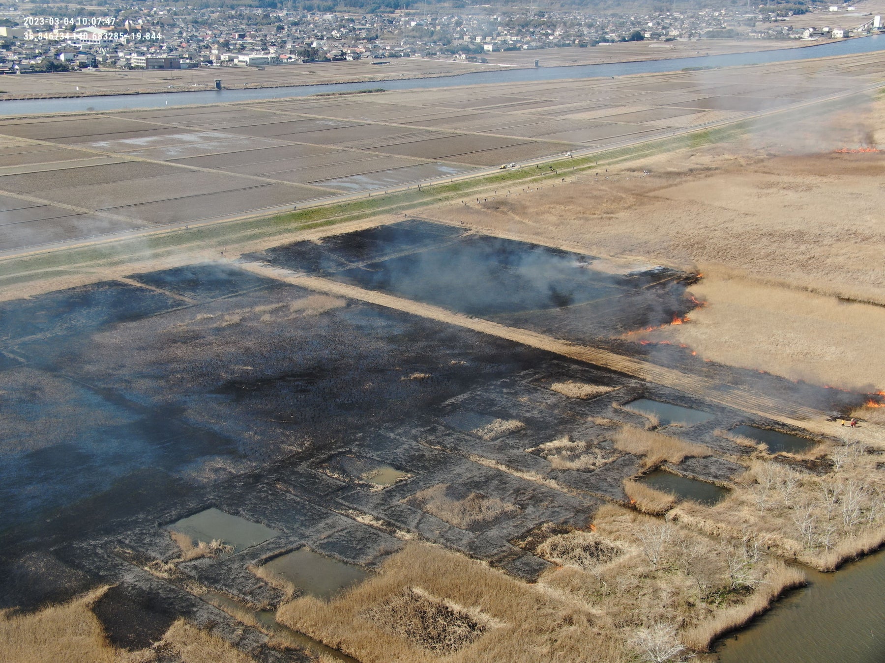
[(594, 530), (553, 533), (538, 583), (412, 543), (331, 602), (304, 597), (277, 618), (363, 663), (651, 660), (712, 638), (804, 583), (750, 542), (722, 544), (612, 505)]

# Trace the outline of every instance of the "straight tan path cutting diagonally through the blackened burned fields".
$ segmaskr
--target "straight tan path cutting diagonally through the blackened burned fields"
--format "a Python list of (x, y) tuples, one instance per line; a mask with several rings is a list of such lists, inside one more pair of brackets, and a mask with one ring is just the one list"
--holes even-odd
[[(432, 304), (411, 301), (388, 293), (366, 290), (358, 286), (312, 277), (306, 274), (273, 267), (266, 263), (239, 263), (239, 266), (258, 276), (273, 278), (284, 283), (302, 286), (319, 293), (345, 297), (352, 300), (396, 309), (416, 316), (426, 317), (438, 322), (455, 324), (473, 331), (480, 331), (499, 339), (512, 340), (528, 347), (536, 347), (554, 354), (587, 362), (604, 369), (614, 370), (632, 377), (639, 377), (647, 382), (664, 385), (689, 393), (704, 400), (710, 400), (727, 408), (735, 408), (755, 415), (765, 416), (774, 421), (788, 423), (800, 428), (810, 428), (815, 421), (825, 421), (827, 415), (820, 410), (800, 405), (770, 400), (763, 395), (746, 392), (735, 387), (717, 382), (707, 377), (683, 373), (666, 366), (658, 366), (634, 357), (613, 353), (598, 347), (582, 346), (572, 341), (554, 339), (537, 331), (528, 331), (508, 327), (504, 324), (490, 322), (481, 318), (466, 316), (461, 313), (442, 309)], [(814, 428), (817, 428), (815, 426)]]

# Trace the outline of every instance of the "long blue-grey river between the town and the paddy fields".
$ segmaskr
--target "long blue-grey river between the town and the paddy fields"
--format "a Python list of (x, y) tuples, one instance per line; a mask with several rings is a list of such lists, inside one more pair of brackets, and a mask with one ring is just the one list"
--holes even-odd
[[(605, 47), (597, 46), (596, 48)], [(601, 78), (626, 76), (634, 73), (678, 72), (686, 67), (761, 65), (772, 62), (807, 60), (812, 57), (873, 53), (878, 50), (885, 50), (885, 34), (874, 34), (869, 37), (859, 37), (841, 42), (827, 42), (797, 49), (761, 50), (755, 53), (732, 53), (717, 56), (676, 57), (669, 60), (620, 62), (610, 65), (496, 69), (488, 72), (464, 73), (456, 76), (440, 76), (427, 79), (381, 80), (370, 83), (330, 83), (327, 85), (304, 85), (290, 88), (223, 89), (200, 92), (176, 92), (172, 94), (156, 93), (150, 95), (107, 95), (65, 99), (9, 100), (0, 102), (0, 115), (162, 108), (165, 106), (184, 106), (199, 103), (285, 99), (288, 97), (315, 95), (321, 92), (348, 92), (373, 86), (383, 87), (388, 90), (411, 90), (419, 88), (452, 88), (462, 85), (489, 83), (519, 83), (531, 80)], [(224, 69), (219, 69), (219, 78), (224, 80)]]

